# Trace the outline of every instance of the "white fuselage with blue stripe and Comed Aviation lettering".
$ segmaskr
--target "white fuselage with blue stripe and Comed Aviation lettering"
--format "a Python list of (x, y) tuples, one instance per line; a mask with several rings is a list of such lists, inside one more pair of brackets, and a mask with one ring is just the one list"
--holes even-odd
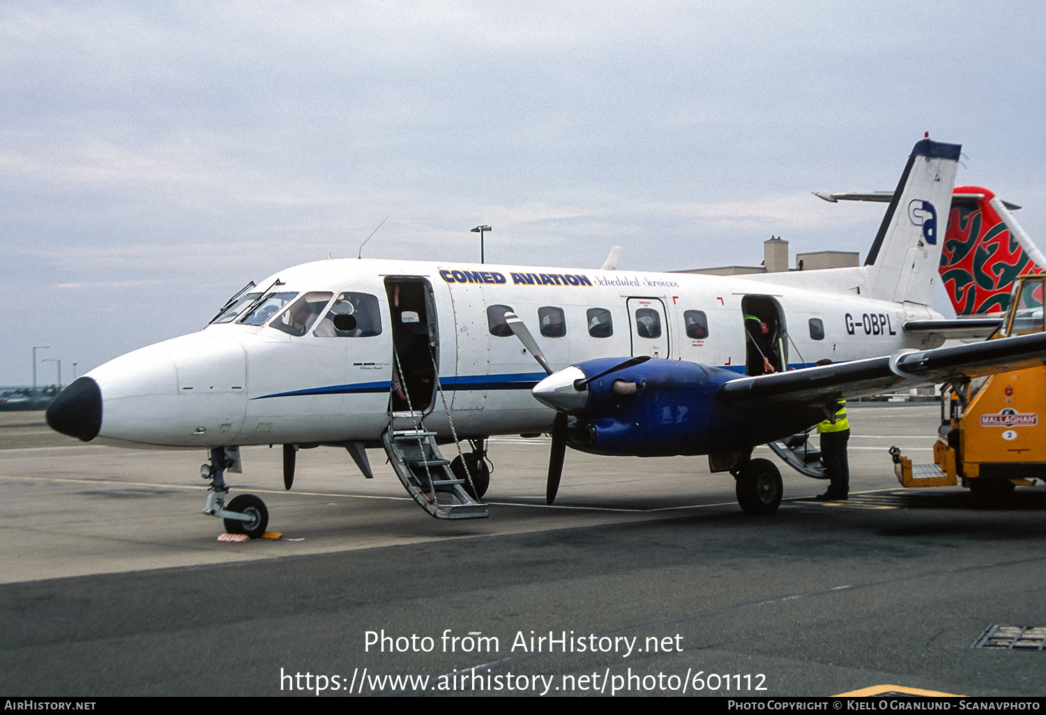
[[(867, 286), (860, 290), (867, 282), (864, 269), (749, 279), (324, 260), (287, 269), (260, 285), (278, 279), (273, 290), (285, 293), (374, 296), (378, 335), (320, 337), (310, 330), (296, 337), (268, 323), (242, 324), (237, 317), (135, 350), (87, 374), (97, 382), (104, 400), (97, 441), (179, 447), (373, 443), (389, 423), (395, 369), (393, 298), (386, 286), (401, 278), (431, 286), (429, 323), (436, 335), (429, 338), (437, 343), (442, 396), (437, 392), (426, 400), (426, 426), (450, 435), (449, 413), (458, 437), (546, 432), (552, 424), (553, 411), (530, 394), (545, 373), (516, 337), (492, 335), (492, 306), (507, 306), (527, 324), (553, 370), (595, 358), (647, 354), (744, 373), (751, 350), (746, 297), (757, 297), (754, 304), (764, 308), (776, 306), (787, 337), (774, 347), (783, 348), (790, 367), (933, 347), (919, 337), (906, 337), (902, 326), (906, 320), (937, 317), (924, 305), (868, 298)], [(549, 307), (562, 310), (552, 313), (565, 319), (565, 335), (550, 337), (562, 328), (543, 331), (539, 309)], [(609, 312), (611, 335), (590, 332), (592, 309)], [(693, 312), (701, 317), (695, 319)], [(690, 325), (693, 320), (704, 320), (704, 328)], [(658, 330), (651, 326), (658, 323), (660, 335), (652, 337)]]

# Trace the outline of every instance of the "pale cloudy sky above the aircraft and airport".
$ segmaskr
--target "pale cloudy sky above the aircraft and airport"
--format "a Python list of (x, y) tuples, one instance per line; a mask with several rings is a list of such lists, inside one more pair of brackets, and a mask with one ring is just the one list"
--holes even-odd
[[(794, 7), (788, 7), (789, 4)], [(780, 5), (780, 6), (778, 6)], [(672, 270), (860, 251), (923, 133), (1046, 244), (1046, 5), (0, 4), (0, 385), (355, 256)], [(53, 383), (55, 365), (41, 365)]]

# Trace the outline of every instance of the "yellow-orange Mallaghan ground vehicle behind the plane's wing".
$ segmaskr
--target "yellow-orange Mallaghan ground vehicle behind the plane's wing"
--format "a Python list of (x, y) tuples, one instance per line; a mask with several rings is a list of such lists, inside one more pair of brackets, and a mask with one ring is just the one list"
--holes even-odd
[[(1020, 276), (1009, 310), (988, 340), (1046, 331), (1046, 276)], [(912, 464), (890, 447), (893, 470), (906, 487), (961, 484), (984, 503), (998, 502), (1015, 486), (1046, 481), (1046, 367), (1000, 372), (940, 390), (940, 428), (933, 464)]]

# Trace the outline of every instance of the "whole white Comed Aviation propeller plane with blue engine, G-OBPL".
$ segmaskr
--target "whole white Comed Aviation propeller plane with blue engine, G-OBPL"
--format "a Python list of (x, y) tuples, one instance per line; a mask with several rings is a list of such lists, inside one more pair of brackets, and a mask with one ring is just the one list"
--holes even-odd
[[(207, 449), (204, 513), (250, 536), (266, 506), (226, 503), (224, 480), (250, 444), (283, 445), (287, 488), (299, 448), (344, 447), (369, 478), (365, 449), (383, 446), (424, 509), (468, 518), (487, 515), (485, 440), (551, 433), (549, 503), (571, 446), (707, 455), (745, 511), (769, 513), (780, 472), (753, 448), (832, 418), (840, 398), (1046, 362), (1046, 335), (939, 347), (970, 332), (929, 307), (959, 151), (915, 144), (862, 267), (731, 278), (322, 260), (91, 370), (47, 419), (84, 441)], [(438, 446), (452, 441), (470, 445), (453, 461)]]

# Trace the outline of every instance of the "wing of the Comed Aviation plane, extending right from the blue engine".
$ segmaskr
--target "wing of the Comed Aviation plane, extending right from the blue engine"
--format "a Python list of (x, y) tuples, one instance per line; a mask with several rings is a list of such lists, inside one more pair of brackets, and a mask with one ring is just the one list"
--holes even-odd
[(818, 402), (1042, 365), (1046, 365), (1046, 332), (1037, 332), (973, 345), (897, 351), (888, 358), (740, 377), (722, 385), (717, 399), (734, 405)]

